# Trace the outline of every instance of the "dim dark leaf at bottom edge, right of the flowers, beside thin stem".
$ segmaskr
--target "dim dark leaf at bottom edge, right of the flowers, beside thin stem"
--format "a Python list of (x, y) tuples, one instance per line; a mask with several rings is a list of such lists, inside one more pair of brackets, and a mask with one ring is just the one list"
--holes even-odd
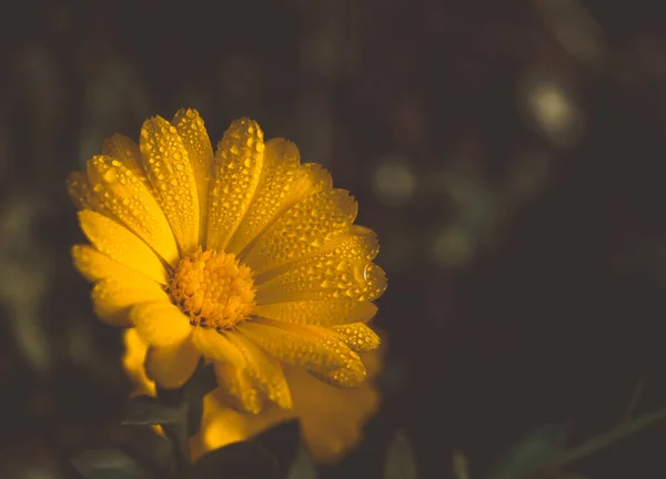
[(566, 438), (566, 425), (545, 425), (523, 437), (500, 460), (488, 475), (488, 479), (514, 479), (551, 462), (562, 448)]

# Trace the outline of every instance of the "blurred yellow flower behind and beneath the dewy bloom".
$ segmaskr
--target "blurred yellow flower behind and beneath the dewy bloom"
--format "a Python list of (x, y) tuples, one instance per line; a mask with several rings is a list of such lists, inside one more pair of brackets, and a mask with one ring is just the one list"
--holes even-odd
[[(123, 365), (133, 384), (132, 395), (154, 395), (154, 383), (148, 379), (142, 366), (148, 345), (135, 329), (128, 329), (124, 340)], [(381, 368), (380, 351), (363, 356), (372, 377)], [(246, 440), (290, 418), (300, 420), (307, 449), (319, 462), (335, 461), (356, 446), (364, 421), (380, 402), (371, 381), (357, 388), (337, 388), (291, 366), (285, 368), (285, 377), (292, 391), (292, 409), (271, 406), (254, 415), (229, 407), (219, 390), (205, 396), (200, 434), (190, 441), (193, 459), (209, 450)]]

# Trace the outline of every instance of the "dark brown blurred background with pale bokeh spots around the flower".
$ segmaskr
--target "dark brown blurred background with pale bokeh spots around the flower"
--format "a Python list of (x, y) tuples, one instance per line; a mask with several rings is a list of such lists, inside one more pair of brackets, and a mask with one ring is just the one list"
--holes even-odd
[[(182, 106), (213, 144), (243, 115), (293, 140), (382, 242), (382, 408), (320, 477), (453, 478), (455, 451), (488, 477), (531, 431), (575, 445), (666, 404), (658, 2), (22, 0), (0, 32), (2, 477), (122, 442), (64, 180)], [(572, 470), (663, 478), (665, 439)]]

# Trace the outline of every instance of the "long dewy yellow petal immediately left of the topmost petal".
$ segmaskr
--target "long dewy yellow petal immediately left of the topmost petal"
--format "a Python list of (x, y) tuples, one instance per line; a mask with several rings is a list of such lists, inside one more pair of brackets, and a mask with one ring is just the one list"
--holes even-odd
[(143, 122), (141, 153), (153, 185), (183, 254), (199, 246), (199, 193), (190, 155), (183, 140), (161, 116)]

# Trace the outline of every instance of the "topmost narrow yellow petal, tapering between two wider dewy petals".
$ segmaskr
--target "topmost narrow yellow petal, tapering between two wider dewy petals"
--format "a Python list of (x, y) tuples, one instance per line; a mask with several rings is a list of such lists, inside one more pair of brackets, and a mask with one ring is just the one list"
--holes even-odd
[(183, 141), (188, 156), (192, 164), (192, 172), (196, 182), (199, 196), (199, 244), (203, 245), (205, 240), (205, 217), (208, 214), (209, 182), (213, 163), (213, 147), (209, 139), (203, 119), (196, 110), (179, 110), (171, 124), (175, 126), (178, 134)]

